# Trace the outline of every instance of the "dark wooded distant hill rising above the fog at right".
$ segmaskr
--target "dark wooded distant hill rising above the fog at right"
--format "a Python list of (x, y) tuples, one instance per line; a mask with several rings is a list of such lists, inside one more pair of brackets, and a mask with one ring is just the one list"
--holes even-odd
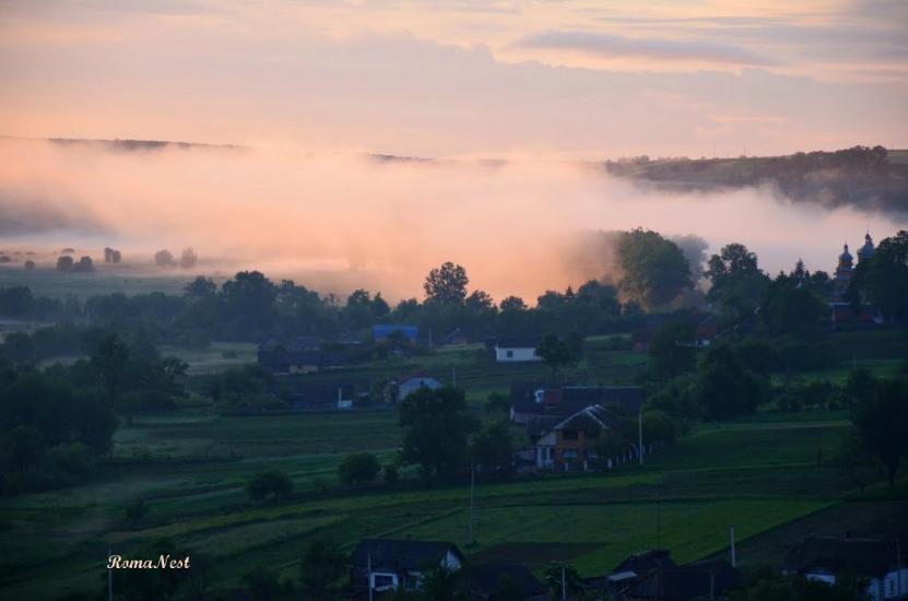
[(769, 186), (793, 201), (908, 216), (908, 151), (854, 146), (835, 152), (740, 158), (608, 161), (601, 168), (656, 189), (721, 191)]

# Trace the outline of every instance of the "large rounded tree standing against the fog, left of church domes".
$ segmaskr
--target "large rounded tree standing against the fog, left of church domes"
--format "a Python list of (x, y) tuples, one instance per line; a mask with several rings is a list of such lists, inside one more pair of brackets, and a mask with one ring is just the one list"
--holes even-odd
[(693, 285), (684, 254), (657, 232), (636, 228), (623, 233), (617, 260), (623, 273), (618, 287), (647, 307), (667, 305)]

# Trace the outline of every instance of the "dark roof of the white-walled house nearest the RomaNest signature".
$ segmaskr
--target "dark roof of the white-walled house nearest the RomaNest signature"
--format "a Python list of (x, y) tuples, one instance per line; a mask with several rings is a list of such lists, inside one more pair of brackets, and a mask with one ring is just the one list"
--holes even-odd
[(372, 563), (373, 570), (422, 570), (439, 565), (449, 551), (463, 561), (460, 550), (449, 542), (363, 539), (353, 550), (350, 563), (363, 569)]

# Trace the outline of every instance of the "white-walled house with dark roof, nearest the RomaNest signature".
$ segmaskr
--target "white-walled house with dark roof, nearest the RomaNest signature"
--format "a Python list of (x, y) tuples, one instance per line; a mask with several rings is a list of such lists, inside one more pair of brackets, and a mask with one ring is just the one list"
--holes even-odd
[(449, 542), (364, 539), (350, 556), (351, 597), (365, 599), (369, 590), (381, 593), (399, 587), (418, 590), (427, 571), (456, 571), (463, 564), (463, 554)]

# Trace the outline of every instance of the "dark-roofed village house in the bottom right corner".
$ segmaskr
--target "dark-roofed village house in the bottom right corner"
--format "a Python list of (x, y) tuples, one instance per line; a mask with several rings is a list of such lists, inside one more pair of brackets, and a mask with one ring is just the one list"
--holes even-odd
[(782, 570), (829, 585), (858, 577), (871, 601), (908, 599), (908, 562), (896, 541), (810, 537), (789, 550)]

